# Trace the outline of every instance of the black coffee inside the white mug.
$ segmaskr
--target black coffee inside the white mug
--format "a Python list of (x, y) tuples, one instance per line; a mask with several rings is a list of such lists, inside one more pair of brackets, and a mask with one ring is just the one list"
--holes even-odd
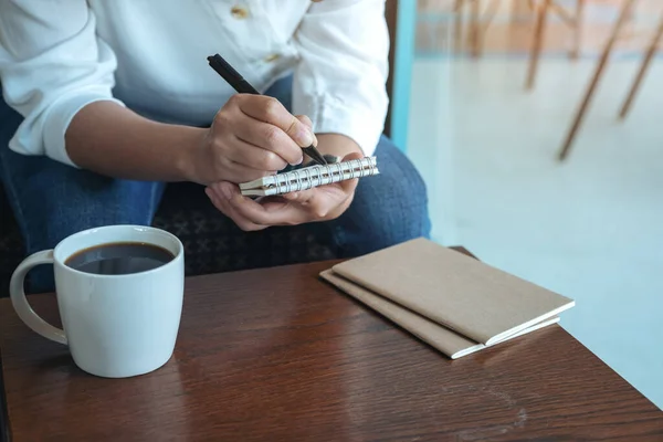
[(157, 245), (140, 242), (115, 242), (82, 250), (65, 264), (97, 275), (126, 275), (160, 267), (175, 255)]

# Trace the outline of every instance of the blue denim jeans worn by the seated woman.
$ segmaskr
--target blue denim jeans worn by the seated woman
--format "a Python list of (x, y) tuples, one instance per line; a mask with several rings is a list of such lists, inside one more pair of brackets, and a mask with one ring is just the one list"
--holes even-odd
[[(287, 82), (278, 82), (269, 94), (290, 107)], [(113, 179), (46, 157), (15, 154), (7, 146), (20, 122), (21, 116), (0, 101), (0, 179), (27, 254), (52, 249), (84, 229), (152, 222), (165, 183)], [(380, 175), (360, 180), (341, 217), (319, 223), (328, 230), (326, 238), (343, 251), (339, 257), (430, 235), (427, 190), (415, 168), (385, 136), (375, 155)], [(31, 292), (52, 291), (52, 270), (35, 269), (30, 282)]]

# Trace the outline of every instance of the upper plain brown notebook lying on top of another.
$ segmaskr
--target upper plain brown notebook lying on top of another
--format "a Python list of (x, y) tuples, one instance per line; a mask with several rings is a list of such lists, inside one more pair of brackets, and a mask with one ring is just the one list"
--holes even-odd
[(345, 261), (333, 270), (484, 345), (575, 305), (566, 296), (423, 238)]

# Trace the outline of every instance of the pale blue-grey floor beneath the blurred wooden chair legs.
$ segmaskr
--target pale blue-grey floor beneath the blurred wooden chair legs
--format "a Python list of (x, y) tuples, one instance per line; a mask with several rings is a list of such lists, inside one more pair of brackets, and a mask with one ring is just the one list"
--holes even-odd
[(663, 408), (663, 62), (621, 124), (636, 63), (611, 64), (559, 164), (593, 63), (545, 60), (525, 93), (525, 60), (419, 59), (408, 154), (438, 241), (576, 298), (562, 326)]

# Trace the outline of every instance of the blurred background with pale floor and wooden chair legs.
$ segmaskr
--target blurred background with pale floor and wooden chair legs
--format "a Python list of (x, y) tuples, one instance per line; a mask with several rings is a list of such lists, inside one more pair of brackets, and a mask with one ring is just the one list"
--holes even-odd
[(561, 325), (663, 408), (663, 1), (415, 4), (394, 112), (434, 240), (573, 297)]

